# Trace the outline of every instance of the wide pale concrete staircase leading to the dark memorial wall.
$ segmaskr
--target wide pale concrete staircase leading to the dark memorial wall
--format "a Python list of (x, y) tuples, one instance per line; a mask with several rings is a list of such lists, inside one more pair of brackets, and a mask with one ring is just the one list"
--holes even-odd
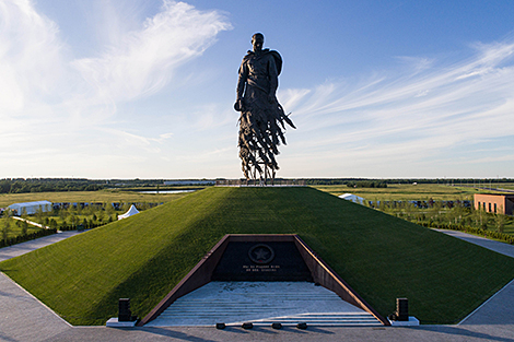
[(334, 292), (306, 282), (211, 282), (178, 298), (145, 327), (198, 327), (224, 322), (269, 326), (382, 326)]

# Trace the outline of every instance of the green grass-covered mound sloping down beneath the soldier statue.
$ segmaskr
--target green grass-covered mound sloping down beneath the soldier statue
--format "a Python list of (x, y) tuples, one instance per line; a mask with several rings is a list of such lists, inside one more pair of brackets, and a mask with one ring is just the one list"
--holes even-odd
[(210, 188), (0, 263), (73, 325), (117, 300), (147, 315), (223, 235), (299, 234), (386, 316), (397, 297), (453, 323), (514, 276), (514, 259), (312, 188)]

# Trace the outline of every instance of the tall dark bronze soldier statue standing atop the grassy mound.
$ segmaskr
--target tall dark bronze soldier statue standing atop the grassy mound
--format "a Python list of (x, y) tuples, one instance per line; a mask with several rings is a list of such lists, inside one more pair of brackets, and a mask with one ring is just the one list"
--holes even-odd
[(280, 142), (285, 144), (285, 125), (295, 128), (276, 97), (278, 76), (282, 70), (279, 52), (262, 49), (265, 37), (252, 37), (253, 51), (243, 58), (237, 81), (234, 109), (240, 117), (240, 157), (246, 179), (273, 180), (279, 165)]

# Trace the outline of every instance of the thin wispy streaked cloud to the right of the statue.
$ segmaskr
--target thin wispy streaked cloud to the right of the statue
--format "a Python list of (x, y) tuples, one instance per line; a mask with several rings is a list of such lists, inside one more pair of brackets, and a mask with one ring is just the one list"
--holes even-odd
[(414, 162), (458, 149), (477, 150), (484, 161), (505, 161), (493, 145), (483, 151), (479, 142), (514, 137), (514, 43), (474, 47), (464, 61), (402, 58), (400, 70), (366, 81), (282, 91), (280, 98), (299, 127), (291, 133), (295, 146), (288, 149), (295, 157), (296, 149), (311, 151), (323, 161), (316, 165), (339, 169), (340, 176), (385, 176), (379, 168), (366, 169), (370, 164), (395, 170), (389, 177), (417, 176), (423, 170)]

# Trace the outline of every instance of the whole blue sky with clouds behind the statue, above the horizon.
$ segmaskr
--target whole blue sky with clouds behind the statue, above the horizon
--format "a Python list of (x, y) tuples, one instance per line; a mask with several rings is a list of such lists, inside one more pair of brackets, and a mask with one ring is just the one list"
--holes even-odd
[(238, 178), (237, 69), (284, 60), (279, 177), (514, 177), (512, 1), (0, 0), (0, 178)]

